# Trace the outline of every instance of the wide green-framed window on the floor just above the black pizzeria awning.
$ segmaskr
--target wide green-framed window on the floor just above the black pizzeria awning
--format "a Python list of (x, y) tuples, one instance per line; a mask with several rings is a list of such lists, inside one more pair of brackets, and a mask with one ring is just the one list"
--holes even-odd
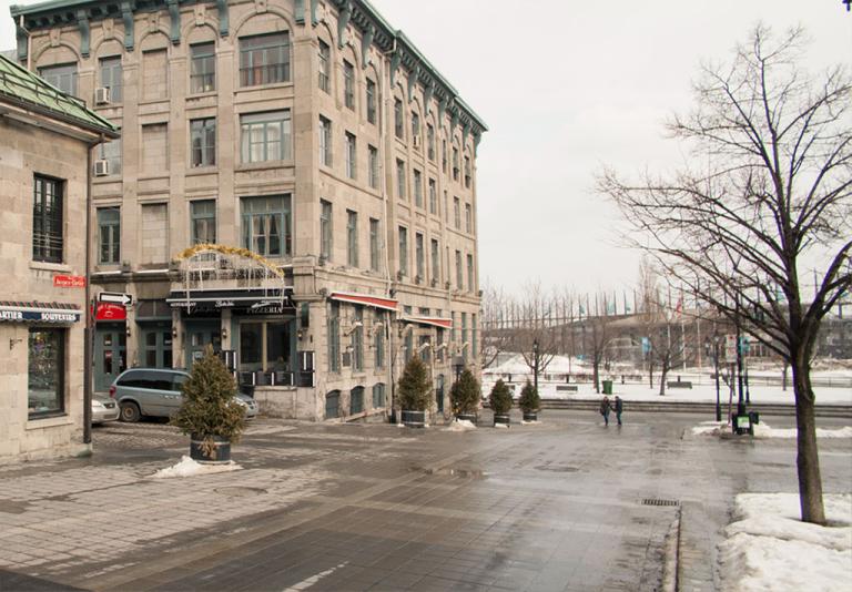
[(267, 257), (291, 254), (290, 194), (243, 197), (242, 217), (244, 248)]

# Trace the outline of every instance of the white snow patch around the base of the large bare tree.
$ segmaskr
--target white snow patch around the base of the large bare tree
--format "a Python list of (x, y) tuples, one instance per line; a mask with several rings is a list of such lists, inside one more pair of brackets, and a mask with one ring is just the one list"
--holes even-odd
[(830, 527), (799, 520), (795, 493), (737, 496), (739, 521), (719, 544), (722, 590), (849, 590), (852, 496), (825, 496)]

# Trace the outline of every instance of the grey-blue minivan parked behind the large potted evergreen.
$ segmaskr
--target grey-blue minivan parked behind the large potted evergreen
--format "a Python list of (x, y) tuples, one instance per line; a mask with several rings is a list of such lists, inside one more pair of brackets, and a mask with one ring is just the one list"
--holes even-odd
[[(130, 368), (112, 382), (110, 397), (118, 402), (122, 421), (171, 417), (181, 406), (181, 385), (189, 377), (189, 372), (181, 369)], [(246, 419), (257, 416), (257, 401), (242, 392), (234, 398), (245, 409)]]

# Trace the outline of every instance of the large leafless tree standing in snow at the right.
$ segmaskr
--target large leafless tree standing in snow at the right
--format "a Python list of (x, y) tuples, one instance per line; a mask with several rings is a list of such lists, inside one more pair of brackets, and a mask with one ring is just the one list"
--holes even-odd
[[(598, 183), (641, 231), (637, 246), (790, 364), (802, 520), (824, 523), (810, 364), (852, 284), (852, 90), (841, 68), (820, 80), (800, 69), (802, 37), (759, 25), (731, 64), (702, 68), (697, 108), (668, 129), (703, 171), (636, 184), (606, 171)], [(818, 266), (812, 297), (805, 257)]]

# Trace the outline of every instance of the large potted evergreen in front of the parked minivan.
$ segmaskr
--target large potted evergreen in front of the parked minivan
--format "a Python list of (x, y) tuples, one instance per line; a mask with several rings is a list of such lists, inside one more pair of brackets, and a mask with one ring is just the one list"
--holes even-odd
[(245, 410), (236, 401), (236, 380), (213, 347), (192, 365), (183, 400), (171, 423), (190, 435), (190, 457), (206, 462), (231, 460), (231, 443), (245, 429)]

